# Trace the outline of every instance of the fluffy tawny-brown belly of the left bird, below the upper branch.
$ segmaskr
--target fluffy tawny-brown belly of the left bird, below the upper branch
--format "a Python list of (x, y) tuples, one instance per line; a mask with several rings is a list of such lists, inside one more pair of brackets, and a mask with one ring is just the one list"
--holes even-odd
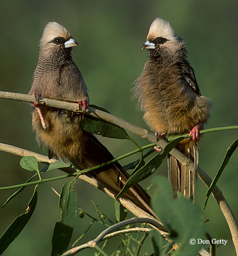
[(37, 111), (32, 114), (32, 128), (38, 142), (43, 142), (60, 159), (82, 154), (85, 139), (80, 126), (79, 115), (69, 115), (59, 111), (42, 111), (47, 124), (44, 129)]

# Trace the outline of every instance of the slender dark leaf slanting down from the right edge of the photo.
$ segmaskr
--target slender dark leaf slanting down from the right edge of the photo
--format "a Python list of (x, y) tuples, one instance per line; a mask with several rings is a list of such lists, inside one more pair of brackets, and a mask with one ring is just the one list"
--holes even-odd
[(230, 146), (228, 147), (227, 152), (226, 152), (226, 155), (225, 155), (225, 157), (224, 157), (224, 159), (223, 159), (223, 161), (222, 161), (222, 163), (221, 163), (221, 166), (220, 166), (220, 168), (219, 168), (219, 170), (218, 170), (218, 172), (217, 172), (215, 178), (214, 178), (213, 181), (211, 182), (211, 185), (210, 185), (210, 187), (209, 187), (209, 189), (208, 189), (208, 192), (207, 192), (207, 195), (206, 195), (206, 199), (205, 199), (205, 203), (204, 203), (204, 207), (203, 207), (204, 210), (205, 210), (205, 208), (206, 208), (206, 205), (207, 205), (207, 203), (208, 203), (208, 198), (209, 198), (209, 196), (210, 196), (210, 194), (211, 194), (213, 188), (214, 188), (215, 185), (217, 184), (217, 182), (218, 182), (218, 180), (219, 180), (219, 178), (220, 178), (222, 172), (224, 171), (226, 165), (228, 164), (228, 161), (230, 160), (232, 154), (233, 154), (234, 151), (237, 149), (237, 147), (238, 147), (238, 138), (235, 139), (235, 140), (230, 144)]

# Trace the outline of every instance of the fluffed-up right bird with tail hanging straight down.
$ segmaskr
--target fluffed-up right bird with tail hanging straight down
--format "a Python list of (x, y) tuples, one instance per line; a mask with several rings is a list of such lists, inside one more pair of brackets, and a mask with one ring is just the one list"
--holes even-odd
[(133, 97), (138, 99), (143, 118), (157, 137), (188, 132), (192, 135), (176, 148), (194, 161), (194, 170), (168, 155), (168, 178), (175, 198), (180, 192), (194, 201), (199, 129), (208, 122), (211, 100), (201, 96), (194, 69), (187, 60), (185, 42), (169, 21), (156, 18), (151, 23), (142, 49), (148, 49), (148, 60), (134, 81)]

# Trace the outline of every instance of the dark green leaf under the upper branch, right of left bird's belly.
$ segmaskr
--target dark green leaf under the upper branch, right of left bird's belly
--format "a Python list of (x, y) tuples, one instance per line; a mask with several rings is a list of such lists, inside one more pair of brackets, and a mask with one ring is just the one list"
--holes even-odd
[(81, 120), (81, 126), (85, 131), (91, 134), (114, 139), (130, 139), (123, 128), (97, 117), (87, 116)]

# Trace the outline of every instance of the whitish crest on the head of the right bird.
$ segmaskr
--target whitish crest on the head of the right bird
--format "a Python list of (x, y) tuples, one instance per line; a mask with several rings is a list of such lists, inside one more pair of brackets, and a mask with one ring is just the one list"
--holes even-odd
[(152, 41), (157, 37), (164, 37), (170, 41), (178, 42), (178, 35), (174, 33), (169, 21), (165, 21), (161, 18), (156, 18), (150, 25), (147, 40)]

